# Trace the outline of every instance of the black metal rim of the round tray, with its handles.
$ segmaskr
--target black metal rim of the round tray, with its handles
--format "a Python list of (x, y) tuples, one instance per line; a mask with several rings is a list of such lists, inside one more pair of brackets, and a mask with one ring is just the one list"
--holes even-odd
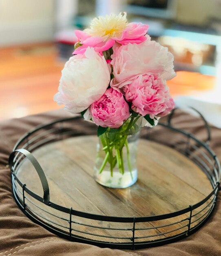
[[(31, 130), (30, 132), (27, 132), (26, 134), (24, 134), (24, 136), (17, 141), (17, 143), (15, 144), (15, 146), (13, 148), (13, 152), (11, 153), (11, 155), (9, 157), (9, 166), (11, 168), (12, 188), (13, 188), (13, 195), (15, 197), (15, 201), (17, 202), (18, 206), (22, 209), (22, 211), (30, 219), (32, 219), (34, 222), (37, 222), (38, 224), (42, 225), (43, 227), (50, 230), (51, 232), (53, 232), (55, 234), (58, 234), (59, 236), (62, 236), (62, 237), (67, 238), (69, 240), (74, 239), (75, 241), (79, 240), (80, 242), (84, 242), (84, 240), (85, 240), (86, 243), (99, 245), (101, 247), (108, 246), (108, 247), (111, 247), (111, 248), (124, 248), (124, 249), (145, 248), (147, 246), (157, 246), (157, 245), (164, 244), (164, 243), (170, 243), (172, 241), (179, 240), (179, 239), (181, 239), (185, 236), (188, 236), (189, 234), (192, 234), (194, 231), (199, 229), (199, 227), (201, 227), (201, 225), (203, 225), (204, 222), (206, 222), (206, 220), (211, 215), (212, 210), (214, 209), (214, 206), (216, 204), (216, 198), (217, 198), (219, 187), (220, 187), (220, 182), (219, 181), (220, 181), (220, 177), (221, 177), (221, 166), (220, 166), (220, 163), (217, 159), (217, 156), (215, 155), (213, 150), (209, 147), (210, 128), (209, 128), (206, 120), (202, 117), (202, 115), (197, 111), (199, 113), (199, 115), (202, 117), (203, 121), (205, 122), (205, 127), (206, 127), (206, 130), (208, 132), (208, 138), (207, 138), (206, 142), (197, 139), (194, 135), (187, 132), (186, 130), (181, 130), (181, 129), (175, 128), (174, 126), (171, 125), (171, 119), (172, 119), (172, 116), (173, 116), (175, 110), (173, 110), (171, 112), (171, 114), (169, 115), (168, 122), (167, 123), (159, 123), (159, 126), (163, 126), (166, 129), (178, 132), (178, 133), (180, 133), (180, 134), (182, 134), (183, 136), (186, 137), (187, 147), (186, 147), (185, 152), (183, 152), (183, 153), (186, 154), (187, 156), (191, 153), (191, 152), (188, 151), (188, 146), (190, 144), (190, 140), (193, 140), (197, 143), (197, 145), (202, 146), (207, 151), (208, 155), (210, 155), (210, 157), (213, 159), (213, 162), (211, 162), (211, 160), (210, 160), (210, 162), (212, 164), (212, 169), (213, 169), (212, 172), (208, 171), (208, 169), (204, 166), (205, 163), (203, 164), (203, 161), (200, 162), (199, 159), (191, 159), (193, 162), (195, 162), (197, 165), (199, 165), (201, 167), (201, 169), (204, 173), (206, 173), (206, 175), (207, 175), (207, 177), (210, 180), (210, 183), (212, 185), (212, 191), (210, 192), (210, 194), (207, 195), (200, 202), (198, 202), (196, 204), (193, 204), (193, 205), (190, 205), (189, 207), (186, 207), (185, 209), (181, 209), (179, 211), (175, 211), (175, 212), (172, 212), (172, 213), (167, 213), (167, 214), (162, 214), (162, 215), (157, 215), (157, 216), (142, 216), (142, 217), (135, 217), (135, 216), (129, 216), (129, 217), (104, 216), (104, 215), (98, 215), (98, 214), (93, 214), (93, 213), (77, 211), (75, 209), (72, 209), (72, 207), (67, 208), (67, 207), (63, 207), (61, 205), (58, 205), (58, 204), (55, 204), (55, 203), (51, 202), (50, 201), (50, 193), (49, 193), (49, 185), (48, 185), (46, 176), (44, 175), (44, 171), (42, 170), (40, 164), (35, 159), (35, 157), (33, 157), (31, 152), (33, 150), (35, 150), (35, 148), (38, 148), (38, 147), (42, 146), (42, 144), (44, 145), (46, 143), (50, 143), (51, 141), (54, 141), (54, 137), (52, 136), (52, 139), (42, 139), (42, 140), (40, 140), (40, 142), (39, 141), (36, 142), (37, 139), (35, 139), (35, 137), (33, 137), (32, 142), (35, 142), (33, 144), (30, 143), (31, 140), (29, 138), (31, 137), (31, 135), (35, 135), (36, 132), (41, 131), (41, 130), (46, 130), (46, 129), (48, 129), (47, 132), (50, 134), (51, 130), (53, 130), (54, 125), (62, 124), (62, 126), (63, 126), (63, 123), (65, 123), (65, 122), (75, 121), (75, 120), (81, 119), (82, 117), (80, 117), (80, 116), (58, 119), (58, 120), (53, 121), (49, 124), (37, 126), (36, 128)], [(70, 131), (66, 132), (65, 130), (62, 130), (62, 127), (56, 128), (55, 130), (57, 130), (58, 135), (59, 135), (60, 132), (63, 132), (62, 133), (63, 135), (67, 135), (67, 136), (72, 135), (72, 133)], [(57, 134), (56, 134), (56, 136), (57, 136)], [(79, 134), (79, 135), (81, 135), (81, 134)], [(59, 136), (58, 139), (62, 139), (62, 137), (63, 136)], [(37, 138), (37, 136), (36, 136), (36, 138)], [(38, 139), (39, 138), (41, 139), (41, 137), (38, 136)], [(22, 147), (21, 147), (21, 145), (22, 145)], [(31, 148), (30, 146), (32, 146), (32, 148), (33, 148), (32, 150), (30, 150), (30, 148)], [(37, 171), (37, 173), (40, 177), (40, 180), (42, 182), (43, 191), (44, 191), (43, 197), (41, 197), (40, 195), (37, 195), (36, 193), (31, 191), (26, 186), (26, 184), (22, 183), (19, 180), (19, 178), (16, 175), (16, 171), (18, 170), (19, 166), (22, 164), (23, 159), (25, 159), (25, 158), (28, 158), (31, 161), (31, 163), (33, 164), (35, 170)], [(20, 191), (20, 193), (22, 193), (21, 197), (18, 194), (18, 191), (17, 191), (18, 185), (16, 184), (16, 182), (22, 188), (22, 191)], [(65, 219), (69, 223), (69, 232), (65, 232), (61, 229), (57, 229), (53, 226), (50, 226), (50, 225), (48, 225), (48, 223), (44, 223), (41, 219), (37, 218), (36, 214), (31, 213), (31, 210), (26, 205), (26, 196), (25, 196), (26, 193), (29, 194), (31, 197), (35, 198), (36, 200), (38, 200), (39, 202), (41, 202), (43, 204), (46, 204), (47, 206), (49, 206), (53, 209), (56, 209), (58, 211), (69, 214), (69, 220)], [(213, 196), (213, 198), (211, 199), (212, 196)], [(205, 218), (203, 218), (197, 225), (191, 227), (192, 211), (194, 209), (197, 209), (198, 207), (200, 207), (204, 203), (206, 203), (209, 199), (211, 199), (211, 201), (208, 205), (210, 205), (210, 204), (211, 205), (210, 205), (208, 211), (206, 212), (206, 214), (204, 216)], [(163, 238), (163, 239), (157, 239), (157, 240), (146, 241), (146, 242), (141, 242), (141, 241), (137, 242), (137, 241), (135, 241), (135, 239), (145, 238), (145, 237), (136, 237), (135, 236), (135, 230), (146, 230), (145, 228), (136, 229), (135, 228), (135, 223), (165, 220), (165, 219), (168, 219), (168, 218), (181, 216), (184, 213), (189, 213), (188, 218), (180, 221), (180, 222), (182, 222), (182, 221), (188, 220), (188, 225), (183, 226), (183, 227), (187, 227), (186, 231), (183, 231), (183, 232), (179, 233), (179, 235), (170, 236), (169, 238), (167, 237), (167, 238)], [(72, 216), (79, 216), (79, 217), (86, 218), (86, 219), (100, 220), (100, 221), (106, 221), (106, 222), (133, 223), (133, 228), (131, 228), (131, 229), (119, 229), (119, 230), (131, 230), (132, 231), (133, 235), (131, 236), (131, 238), (119, 237), (119, 238), (122, 238), (122, 239), (130, 239), (131, 242), (129, 242), (129, 243), (104, 242), (104, 241), (99, 241), (99, 240), (95, 240), (95, 239), (85, 238), (84, 236), (78, 236), (76, 234), (73, 235), (72, 231), (74, 229), (71, 227), (71, 225), (72, 225), (72, 223), (77, 223), (77, 222), (72, 221)], [(200, 217), (200, 218), (202, 218), (202, 217)], [(176, 223), (178, 223), (178, 222), (176, 222)], [(77, 223), (77, 224), (85, 225), (84, 223)], [(175, 224), (175, 223), (172, 223), (172, 224)], [(172, 225), (172, 224), (170, 224), (170, 225)], [(90, 225), (85, 225), (85, 226), (90, 227)], [(169, 226), (169, 225), (166, 225), (166, 226)], [(97, 226), (91, 226), (91, 227), (102, 228), (102, 227), (97, 227)], [(164, 227), (164, 226), (161, 226), (161, 227)], [(156, 227), (153, 227), (153, 228), (156, 228)], [(108, 229), (108, 228), (105, 227), (105, 229)], [(115, 229), (115, 230), (117, 230), (117, 229)], [(172, 231), (170, 231), (170, 232), (172, 232)], [(170, 232), (168, 232), (168, 233), (170, 233)], [(84, 233), (84, 232), (81, 232), (81, 233)], [(166, 233), (164, 233), (164, 234), (166, 234)], [(94, 234), (92, 234), (92, 235), (94, 235)], [(94, 235), (94, 236), (96, 236), (96, 235)], [(105, 237), (105, 236), (102, 236), (102, 237)], [(110, 237), (110, 238), (115, 238), (115, 237)]]

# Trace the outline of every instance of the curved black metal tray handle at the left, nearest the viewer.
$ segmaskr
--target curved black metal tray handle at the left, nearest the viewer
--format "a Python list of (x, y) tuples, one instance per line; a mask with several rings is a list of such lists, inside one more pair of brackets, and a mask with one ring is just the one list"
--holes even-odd
[(49, 193), (48, 181), (46, 179), (46, 176), (44, 174), (44, 171), (43, 171), (42, 167), (40, 166), (40, 164), (38, 163), (36, 158), (28, 150), (26, 150), (24, 148), (20, 148), (20, 149), (14, 150), (11, 153), (11, 155), (9, 156), (9, 166), (11, 168), (11, 171), (13, 171), (13, 165), (14, 165), (13, 159), (15, 157), (16, 152), (19, 152), (19, 153), (23, 154), (25, 157), (27, 157), (27, 159), (29, 159), (29, 161), (31, 162), (31, 164), (35, 168), (35, 170), (38, 173), (38, 176), (40, 178), (40, 181), (42, 183), (42, 188), (43, 188), (43, 191), (44, 191), (43, 202), (44, 202), (44, 204), (49, 204), (50, 193)]

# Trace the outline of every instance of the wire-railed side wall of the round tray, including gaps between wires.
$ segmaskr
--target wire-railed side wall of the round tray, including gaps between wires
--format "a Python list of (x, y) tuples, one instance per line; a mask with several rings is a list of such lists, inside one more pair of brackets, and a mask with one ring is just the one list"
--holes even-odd
[[(185, 139), (184, 141), (184, 149), (178, 148), (181, 153), (184, 155), (188, 155), (190, 159), (195, 162), (201, 170), (206, 173), (210, 183), (212, 185), (211, 192), (208, 196), (206, 196), (203, 200), (198, 202), (197, 204), (190, 205), (189, 207), (175, 211), (172, 213), (162, 214), (158, 216), (144, 216), (144, 217), (117, 217), (117, 216), (102, 216), (92, 213), (86, 213), (82, 211), (77, 211), (72, 207), (66, 208), (58, 204), (54, 204), (50, 201), (50, 193), (49, 186), (46, 180), (46, 176), (44, 175), (44, 171), (42, 170), (38, 161), (31, 154), (35, 149), (50, 143), (52, 141), (65, 139), (71, 136), (79, 136), (83, 135), (82, 132), (76, 132), (75, 130), (65, 127), (64, 124), (69, 122), (80, 121), (81, 117), (72, 117), (69, 119), (60, 119), (54, 121), (50, 124), (41, 125), (31, 130), (27, 134), (25, 134), (21, 139), (17, 141), (13, 152), (9, 157), (9, 166), (11, 168), (11, 178), (12, 178), (12, 188), (13, 195), (15, 201), (18, 206), (22, 209), (22, 211), (34, 222), (48, 229), (49, 231), (61, 236), (63, 238), (77, 241), (81, 243), (89, 243), (93, 245), (98, 245), (100, 247), (110, 247), (110, 248), (118, 248), (118, 249), (139, 249), (146, 248), (151, 246), (163, 245), (166, 243), (171, 243), (177, 241), (181, 238), (189, 236), (196, 230), (198, 230), (209, 218), (212, 213), (212, 210), (216, 204), (216, 198), (219, 191), (219, 180), (221, 176), (221, 167), (220, 163), (217, 159), (217, 156), (208, 146), (208, 142), (210, 140), (210, 128), (206, 123), (206, 120), (203, 118), (203, 121), (206, 125), (206, 130), (208, 131), (208, 139), (206, 142), (203, 142), (197, 139), (191, 133), (177, 129), (171, 125), (171, 119), (174, 111), (171, 112), (168, 117), (168, 122), (160, 123), (160, 126), (165, 127), (167, 130), (171, 132), (177, 132), (182, 135)], [(58, 127), (57, 127), (58, 126)], [(194, 142), (191, 145), (190, 142)], [(204, 151), (206, 151), (206, 153)], [(197, 152), (197, 154), (195, 154)], [(17, 175), (17, 171), (20, 166), (23, 164), (24, 159), (29, 159), (33, 164), (35, 170), (37, 171), (40, 180), (42, 182), (42, 187), (44, 191), (43, 197), (37, 195), (31, 191), (26, 184), (22, 183)], [(47, 210), (43, 209), (33, 200), (37, 200), (40, 205), (46, 205)], [(38, 213), (33, 208), (38, 208)], [(202, 208), (201, 208), (202, 207)], [(62, 214), (66, 214), (66, 218), (51, 213), (50, 209), (55, 209), (57, 212)], [(196, 212), (194, 212), (194, 210)], [(45, 215), (56, 217), (66, 223), (66, 225), (61, 225), (56, 221), (52, 221), (49, 217)], [(104, 225), (92, 225), (88, 223), (84, 223), (83, 221), (77, 221), (76, 217), (80, 217), (83, 220), (92, 221), (102, 221), (107, 223), (125, 223), (128, 226), (124, 228), (119, 227), (108, 227)], [(179, 218), (177, 220), (176, 218)], [(168, 224), (164, 225), (154, 225), (153, 222), (160, 220), (170, 219)], [(172, 223), (171, 223), (172, 222)], [(151, 227), (137, 227), (138, 223), (143, 224), (151, 224)], [(174, 228), (173, 225), (179, 225), (179, 227)], [(75, 225), (75, 227), (73, 227)], [(144, 225), (145, 226), (145, 225)], [(89, 227), (93, 229), (93, 232), (88, 232), (77, 227)], [(161, 228), (172, 227), (172, 230), (161, 232)], [(97, 230), (104, 230), (106, 234), (99, 234)], [(143, 235), (137, 236), (136, 233), (139, 232), (147, 232), (150, 230), (157, 231), (157, 234), (148, 234), (144, 233)], [(122, 236), (112, 236), (110, 234), (111, 231), (122, 232)], [(177, 232), (174, 234), (174, 232)], [(131, 232), (131, 236), (126, 236), (125, 232)], [(156, 237), (161, 237), (157, 238)], [(99, 238), (99, 240), (98, 240)], [(105, 240), (108, 238), (108, 240)], [(147, 239), (150, 238), (150, 239)], [(118, 241), (120, 240), (120, 242)]]

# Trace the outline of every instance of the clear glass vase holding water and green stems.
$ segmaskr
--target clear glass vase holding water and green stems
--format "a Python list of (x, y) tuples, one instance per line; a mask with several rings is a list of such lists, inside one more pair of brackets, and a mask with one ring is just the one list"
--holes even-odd
[[(137, 181), (137, 144), (141, 121), (130, 129), (110, 129), (99, 136), (94, 179), (110, 188), (127, 188)], [(126, 124), (126, 127), (129, 127)]]

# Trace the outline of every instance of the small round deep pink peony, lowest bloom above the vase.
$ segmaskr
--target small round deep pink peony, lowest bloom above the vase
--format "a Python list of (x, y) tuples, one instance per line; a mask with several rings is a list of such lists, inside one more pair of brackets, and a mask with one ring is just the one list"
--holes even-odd
[(93, 121), (98, 126), (119, 128), (130, 116), (128, 103), (121, 92), (109, 88), (90, 107)]

